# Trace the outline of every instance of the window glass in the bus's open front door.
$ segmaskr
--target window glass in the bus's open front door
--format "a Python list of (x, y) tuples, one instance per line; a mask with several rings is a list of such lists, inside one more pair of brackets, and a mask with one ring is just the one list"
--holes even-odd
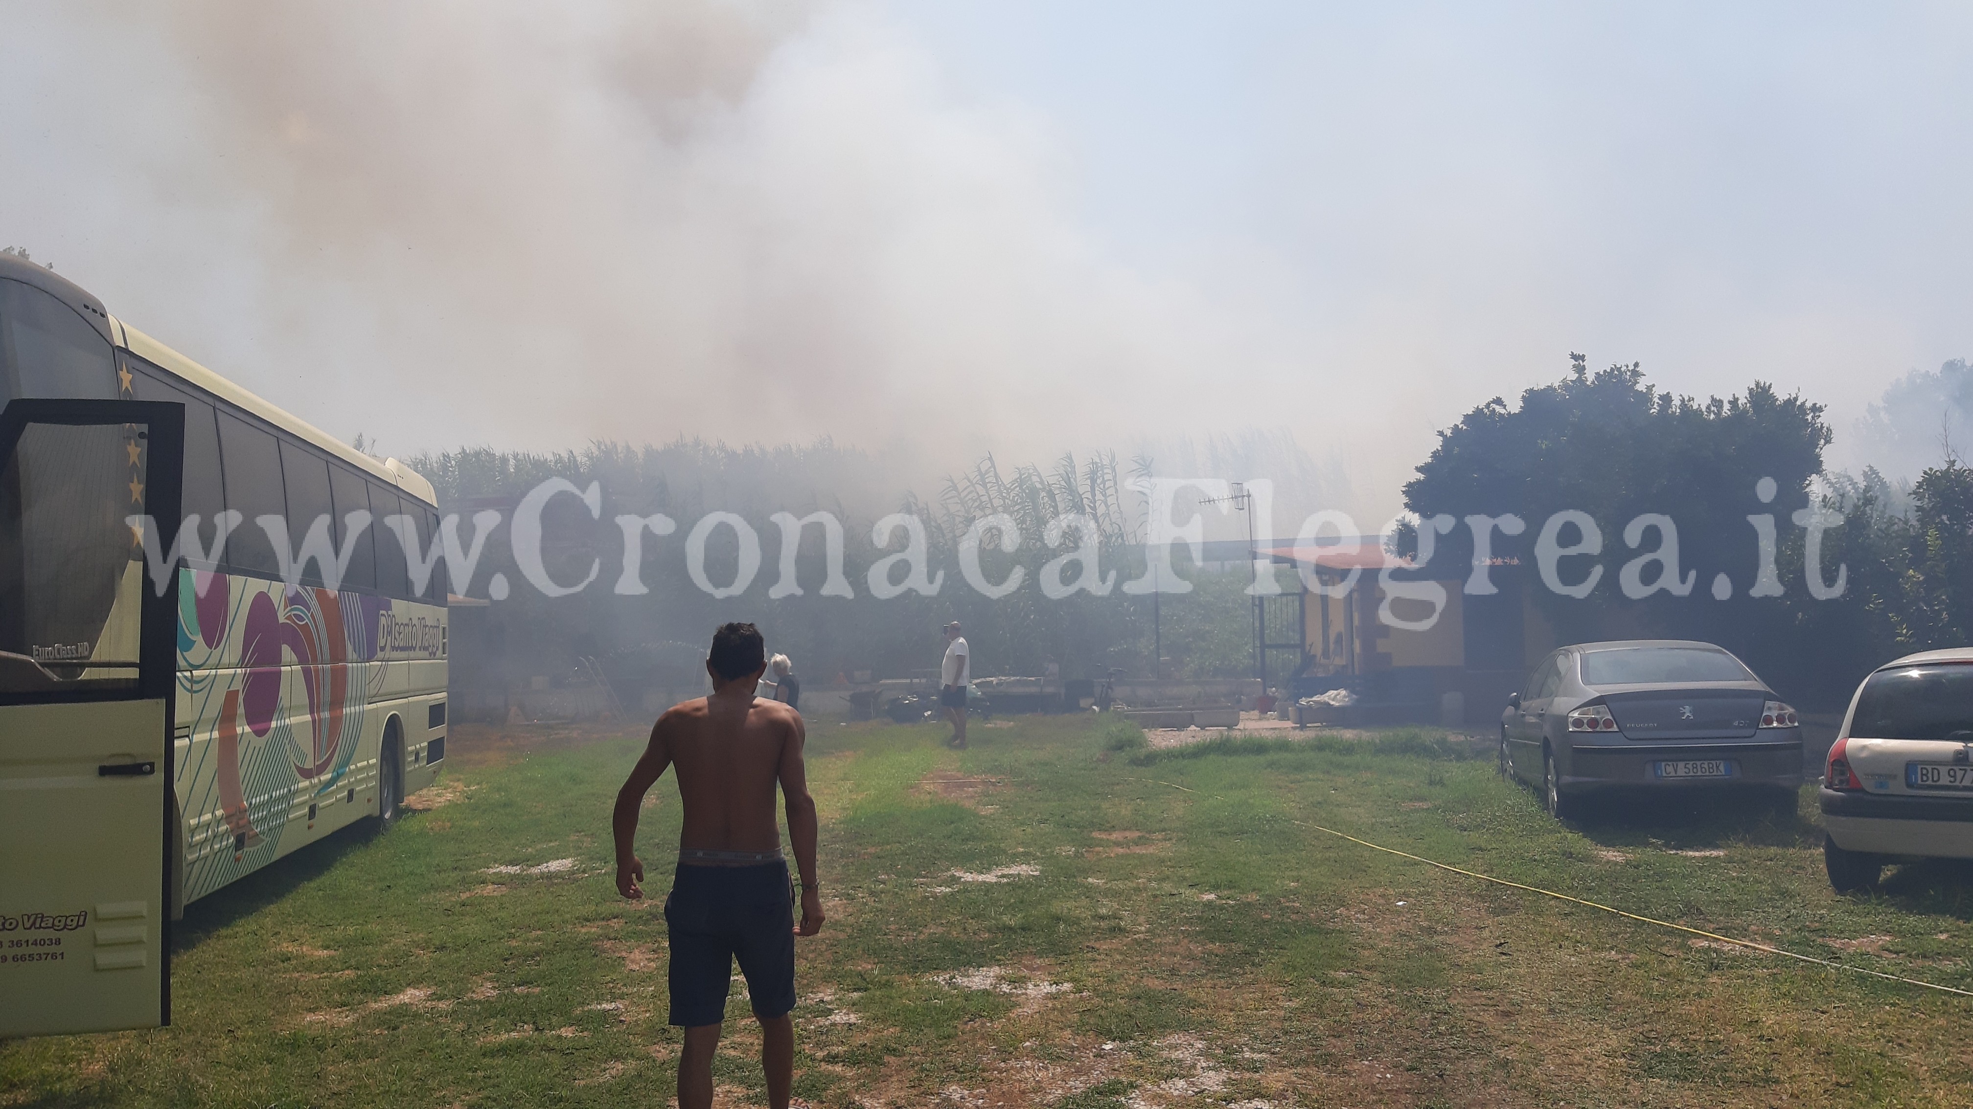
[(0, 695), (136, 689), (144, 562), (124, 515), (144, 507), (124, 440), (120, 424), (30, 424), (0, 470)]

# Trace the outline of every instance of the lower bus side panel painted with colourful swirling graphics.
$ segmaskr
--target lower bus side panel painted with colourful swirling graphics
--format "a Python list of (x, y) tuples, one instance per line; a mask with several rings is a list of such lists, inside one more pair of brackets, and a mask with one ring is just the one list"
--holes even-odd
[(444, 689), (444, 610), (197, 570), (180, 572), (178, 608), (191, 902), (377, 811), (387, 716), (404, 718), (406, 762), (426, 722), (422, 702), (404, 704), (399, 659), (438, 655), (422, 681)]

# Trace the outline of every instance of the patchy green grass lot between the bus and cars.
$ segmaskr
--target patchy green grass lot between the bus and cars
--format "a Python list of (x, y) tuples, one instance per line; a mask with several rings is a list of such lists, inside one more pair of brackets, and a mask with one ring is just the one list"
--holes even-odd
[[(1835, 896), (1807, 795), (1795, 819), (1565, 827), (1436, 732), (1146, 750), (1089, 718), (1022, 718), (967, 752), (939, 736), (811, 738), (831, 914), (799, 947), (811, 1105), (1973, 1101), (1965, 998), (1693, 945), (1312, 827), (1973, 989), (1969, 870)], [(472, 756), (470, 732), (454, 744)], [(195, 904), (174, 1028), (0, 1044), (0, 1105), (663, 1103), (679, 1038), (657, 902), (679, 807), (659, 783), (653, 898), (621, 902), (608, 819), (635, 754), (454, 768), (452, 803)], [(728, 1103), (758, 1103), (738, 985), (728, 1014), (716, 1075)]]

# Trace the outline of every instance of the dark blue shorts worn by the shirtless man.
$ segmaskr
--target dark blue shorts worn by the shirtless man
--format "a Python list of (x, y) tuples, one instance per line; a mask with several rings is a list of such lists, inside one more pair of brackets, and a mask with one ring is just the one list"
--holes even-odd
[(787, 862), (679, 866), (665, 898), (671, 925), (671, 1022), (726, 1020), (734, 959), (754, 1016), (795, 1008), (795, 910)]

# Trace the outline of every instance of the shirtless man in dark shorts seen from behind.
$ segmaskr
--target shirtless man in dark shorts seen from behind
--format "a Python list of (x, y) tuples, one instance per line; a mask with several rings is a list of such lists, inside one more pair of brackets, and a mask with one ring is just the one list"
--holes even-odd
[[(801, 714), (775, 701), (756, 701), (767, 661), (752, 624), (726, 624), (712, 635), (706, 673), (712, 695), (671, 706), (651, 728), (651, 746), (618, 793), (618, 892), (643, 896), (643, 860), (635, 854), (637, 809), (645, 791), (679, 768), (685, 829), (679, 870), (665, 898), (671, 925), (671, 1022), (685, 1028), (679, 1056), (679, 1109), (712, 1105), (712, 1052), (726, 1020), (734, 959), (746, 975), (760, 1020), (760, 1066), (767, 1103), (787, 1107), (795, 1072), (795, 935), (823, 929), (815, 884), (815, 801), (809, 797)], [(773, 825), (773, 787), (787, 801), (787, 839), (801, 872), (801, 925), (795, 927), (787, 860)]]

